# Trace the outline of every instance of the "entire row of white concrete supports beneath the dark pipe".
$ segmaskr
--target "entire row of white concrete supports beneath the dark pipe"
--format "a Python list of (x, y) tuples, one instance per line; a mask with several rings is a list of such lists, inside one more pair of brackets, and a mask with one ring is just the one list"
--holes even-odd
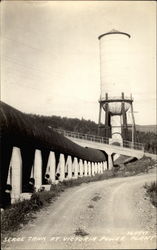
[[(59, 174), (59, 181), (77, 179), (83, 176), (94, 176), (102, 174), (107, 170), (107, 161), (90, 162), (76, 157), (67, 157), (60, 153), (59, 161), (53, 151), (50, 151), (46, 174), (49, 174), (53, 184), (56, 183), (56, 175)], [(35, 179), (35, 187), (38, 190), (42, 186), (42, 154), (36, 149), (34, 163), (31, 169), (31, 176)], [(8, 184), (12, 185), (12, 197), (14, 200), (20, 197), (22, 193), (22, 157), (20, 148), (13, 147), (12, 156), (9, 165)]]

